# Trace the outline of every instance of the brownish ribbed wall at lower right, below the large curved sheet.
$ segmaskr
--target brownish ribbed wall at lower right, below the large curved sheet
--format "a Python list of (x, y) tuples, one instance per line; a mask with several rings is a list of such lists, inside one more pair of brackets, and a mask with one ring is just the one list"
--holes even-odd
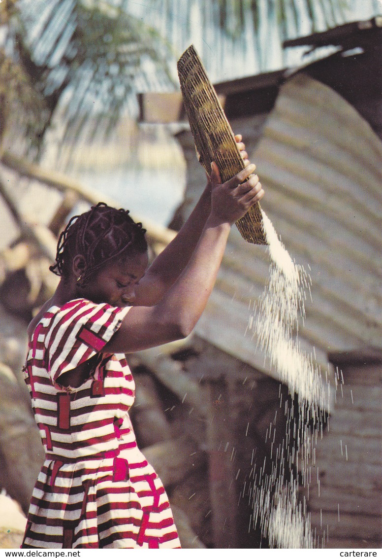
[(331, 358), (344, 386), (337, 391), (329, 428), (317, 442), (320, 490), (317, 484), (311, 487), (312, 523), (326, 528), (327, 547), (376, 549), (381, 546), (381, 360)]

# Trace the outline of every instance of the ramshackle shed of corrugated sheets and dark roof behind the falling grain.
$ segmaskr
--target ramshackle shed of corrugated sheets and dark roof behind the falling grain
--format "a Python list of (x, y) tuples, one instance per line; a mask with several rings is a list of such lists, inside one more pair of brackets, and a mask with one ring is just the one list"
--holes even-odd
[[(321, 494), (315, 487), (308, 502), (314, 527), (329, 530), (326, 545), (333, 547), (381, 542), (381, 25), (377, 17), (288, 41), (288, 47), (331, 45), (336, 51), (303, 68), (215, 85), (265, 185), (263, 209), (291, 256), (311, 270), (313, 300), (306, 302), (300, 341), (308, 352), (315, 348), (317, 361), (332, 374), (334, 364), (342, 368), (346, 397), (342, 400), (339, 384), (329, 429), (317, 446)], [(159, 95), (140, 98), (143, 119), (155, 114), (155, 103), (160, 104)], [(192, 137), (182, 128), (184, 112), (176, 95), (174, 106), (188, 165), (185, 201), (173, 219), (177, 227), (205, 179)], [(221, 393), (234, 377), (231, 358), (246, 363), (251, 373), (273, 374), (244, 336), (248, 306), (267, 282), (268, 264), (266, 249), (248, 246), (232, 230), (216, 288), (196, 328), (217, 354), (229, 355), (220, 368)], [(212, 384), (213, 403), (217, 378), (200, 362), (202, 374), (202, 383)], [(232, 415), (232, 407), (226, 411)], [(227, 470), (227, 480), (230, 474)], [(340, 522), (335, 522), (338, 504)]]

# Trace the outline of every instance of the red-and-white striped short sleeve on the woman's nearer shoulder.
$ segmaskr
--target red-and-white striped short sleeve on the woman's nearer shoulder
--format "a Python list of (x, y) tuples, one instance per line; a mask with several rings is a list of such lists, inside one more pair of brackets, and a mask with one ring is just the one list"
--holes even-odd
[(57, 378), (102, 351), (130, 310), (85, 299), (68, 302), (57, 312), (45, 336), (46, 365), (53, 385)]

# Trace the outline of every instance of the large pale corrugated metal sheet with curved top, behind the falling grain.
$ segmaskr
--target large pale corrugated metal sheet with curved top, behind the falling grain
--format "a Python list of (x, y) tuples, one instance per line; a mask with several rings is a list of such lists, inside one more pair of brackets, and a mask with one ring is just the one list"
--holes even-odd
[[(300, 73), (282, 85), (250, 159), (265, 185), (263, 209), (292, 258), (311, 268), (302, 347), (314, 345), (322, 364), (331, 352), (382, 350), (379, 138), (334, 90)], [(267, 248), (233, 228), (197, 333), (272, 374), (244, 336), (269, 263)]]

